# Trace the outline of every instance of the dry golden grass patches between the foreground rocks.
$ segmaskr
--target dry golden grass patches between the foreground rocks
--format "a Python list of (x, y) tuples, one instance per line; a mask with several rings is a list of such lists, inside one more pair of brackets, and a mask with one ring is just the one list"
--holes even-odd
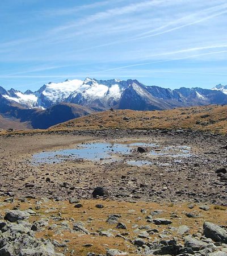
[[(1, 199), (3, 201), (3, 199)], [(47, 203), (41, 204), (40, 210), (37, 210), (37, 216), (31, 216), (30, 222), (38, 220), (40, 218), (48, 217), (51, 219), (52, 216), (59, 216), (64, 218), (64, 221), (68, 221), (70, 227), (72, 228), (73, 222), (82, 221), (89, 232), (98, 232), (98, 230), (108, 230), (112, 229), (111, 233), (114, 235), (124, 234), (128, 240), (134, 240), (138, 233), (135, 233), (133, 224), (138, 226), (149, 225), (150, 228), (157, 228), (159, 233), (163, 229), (168, 230), (168, 226), (156, 226), (152, 223), (146, 222), (146, 216), (150, 214), (153, 210), (163, 210), (163, 213), (159, 214), (157, 217), (163, 217), (170, 219), (173, 224), (171, 227), (178, 228), (181, 225), (187, 225), (190, 228), (190, 234), (197, 233), (199, 229), (203, 227), (204, 221), (211, 221), (218, 225), (227, 225), (226, 212), (227, 207), (218, 208), (217, 206), (210, 207), (210, 210), (204, 211), (199, 209), (199, 205), (195, 205), (194, 209), (189, 209), (187, 203), (183, 204), (167, 204), (167, 203), (150, 203), (150, 202), (137, 202), (128, 203), (123, 201), (103, 201), (103, 200), (81, 200), (80, 202), (82, 208), (74, 208), (74, 204), (69, 204), (68, 201), (48, 201)], [(95, 207), (96, 204), (103, 204), (104, 208), (98, 209)], [(30, 203), (8, 203), (0, 207), (0, 213), (4, 214), (6, 209), (12, 209), (15, 205), (19, 205), (20, 209), (28, 209), (30, 207), (35, 208), (35, 200), (31, 200)], [(146, 209), (147, 213), (141, 213), (141, 209)], [(197, 211), (201, 214), (199, 218), (188, 218), (185, 216), (185, 212)], [(121, 214), (120, 222), (124, 222), (127, 225), (127, 230), (116, 229), (116, 224), (110, 225), (106, 222), (108, 215), (112, 213)], [(172, 218), (171, 214), (177, 214), (178, 218)], [(71, 221), (70, 218), (74, 218)], [(155, 217), (154, 217), (155, 218)], [(89, 221), (90, 220), (90, 221)], [(60, 227), (62, 221), (49, 221), (49, 225), (57, 224)], [(116, 230), (114, 232), (113, 230)], [(141, 230), (142, 231), (142, 230)], [(181, 237), (173, 232), (173, 235), (181, 240)], [(131, 242), (125, 241), (121, 237), (102, 237), (95, 236), (93, 234), (83, 234), (80, 232), (70, 233), (62, 231), (62, 234), (56, 234), (53, 230), (48, 230), (48, 227), (42, 232), (36, 232), (36, 237), (38, 238), (51, 238), (57, 240), (58, 242), (65, 242), (65, 240), (70, 240), (68, 242), (69, 252), (65, 255), (70, 255), (70, 251), (74, 250), (74, 255), (87, 255), (87, 252), (93, 251), (94, 253), (105, 253), (106, 248), (119, 249), (122, 251), (128, 251), (130, 255), (134, 255), (133, 251), (135, 247)], [(154, 238), (158, 237), (158, 234), (150, 236), (150, 240), (154, 241)], [(91, 247), (85, 247), (83, 245), (91, 243)], [(63, 249), (60, 249), (62, 251)]]

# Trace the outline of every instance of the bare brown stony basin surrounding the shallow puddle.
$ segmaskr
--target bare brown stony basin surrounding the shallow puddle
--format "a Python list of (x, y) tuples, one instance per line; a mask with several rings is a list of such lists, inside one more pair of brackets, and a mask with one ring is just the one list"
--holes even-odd
[[(36, 152), (75, 147), (82, 142), (142, 141), (161, 146), (188, 146), (190, 156), (149, 156), (133, 151), (127, 160), (152, 164), (130, 166), (125, 160), (106, 163), (67, 159), (32, 163)], [(126, 201), (192, 201), (226, 205), (226, 136), (194, 131), (104, 130), (0, 137), (1, 194), (90, 199), (95, 187), (106, 187), (111, 199)], [(222, 170), (217, 171), (219, 168)], [(216, 173), (220, 172), (220, 173)]]

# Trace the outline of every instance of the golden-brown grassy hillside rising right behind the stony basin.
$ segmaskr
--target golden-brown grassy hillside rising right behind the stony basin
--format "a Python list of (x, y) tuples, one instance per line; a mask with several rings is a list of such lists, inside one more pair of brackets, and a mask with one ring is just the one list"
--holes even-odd
[(226, 134), (227, 105), (177, 108), (163, 111), (113, 110), (77, 118), (52, 130), (193, 129)]

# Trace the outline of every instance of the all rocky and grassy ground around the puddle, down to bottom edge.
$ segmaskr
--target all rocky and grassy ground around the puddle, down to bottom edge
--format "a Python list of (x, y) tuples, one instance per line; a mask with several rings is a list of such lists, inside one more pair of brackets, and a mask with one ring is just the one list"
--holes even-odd
[[(187, 146), (190, 155), (151, 156), (145, 147), (114, 162), (32, 160), (92, 142)], [(180, 129), (2, 135), (0, 256), (226, 256), (226, 145), (226, 135)], [(141, 159), (152, 163), (126, 162)], [(93, 199), (96, 187), (107, 199)]]

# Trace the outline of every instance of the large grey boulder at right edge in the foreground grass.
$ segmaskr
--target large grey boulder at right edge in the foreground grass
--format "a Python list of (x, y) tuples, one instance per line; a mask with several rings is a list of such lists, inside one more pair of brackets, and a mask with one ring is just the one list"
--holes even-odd
[(205, 237), (215, 242), (227, 243), (227, 231), (212, 222), (204, 222), (203, 233)]

